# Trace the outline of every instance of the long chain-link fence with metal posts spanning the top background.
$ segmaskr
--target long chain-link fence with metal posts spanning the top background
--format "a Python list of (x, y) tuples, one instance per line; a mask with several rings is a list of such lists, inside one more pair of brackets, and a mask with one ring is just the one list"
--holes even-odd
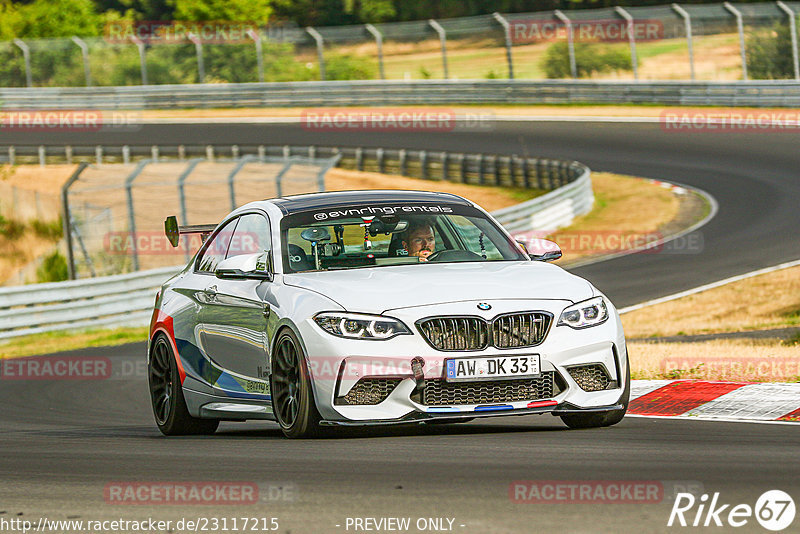
[[(671, 4), (324, 28), (284, 25), (227, 42), (191, 34), (142, 41), (136, 28), (114, 35), (106, 29), (104, 37), (0, 42), (0, 87), (427, 78), (800, 79), (798, 13), (800, 2)], [(748, 73), (748, 54), (770, 47), (774, 61), (789, 66)]]

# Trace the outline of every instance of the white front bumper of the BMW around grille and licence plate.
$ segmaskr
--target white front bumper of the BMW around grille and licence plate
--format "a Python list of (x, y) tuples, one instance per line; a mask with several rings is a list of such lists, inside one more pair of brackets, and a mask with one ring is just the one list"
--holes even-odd
[[(482, 301), (491, 304), (485, 314), (487, 319), (518, 310), (547, 311), (554, 316), (553, 324), (544, 341), (534, 347), (497, 349), (469, 352), (439, 351), (428, 345), (422, 334), (413, 326), (422, 317), (452, 315), (464, 309), (476, 310), (472, 302), (392, 310), (386, 315), (402, 320), (413, 331), (411, 335), (397, 336), (386, 341), (342, 339), (322, 331), (312, 320), (301, 325), (302, 339), (308, 355), (309, 371), (314, 386), (317, 407), (326, 424), (364, 425), (413, 423), (433, 419), (462, 419), (500, 415), (531, 415), (553, 413), (563, 415), (576, 411), (609, 411), (621, 407), (620, 399), (628, 379), (627, 351), (619, 315), (609, 305), (609, 319), (601, 325), (580, 330), (556, 326), (561, 311), (571, 304), (568, 301)], [(472, 313), (471, 313), (472, 314)], [(472, 315), (478, 315), (477, 314)], [(517, 379), (498, 379), (491, 384), (497, 388), (480, 387), (480, 382), (447, 383), (444, 381), (446, 360), (482, 356), (515, 356), (538, 354), (542, 377), (552, 381), (552, 390), (531, 390), (529, 395), (519, 393), (519, 388), (508, 389)], [(415, 378), (411, 361), (424, 361), (424, 385), (420, 376)], [(593, 373), (604, 375), (604, 382), (593, 384), (585, 372), (591, 366)], [(599, 376), (599, 375), (598, 375)], [(535, 377), (522, 380), (534, 380)], [(343, 402), (359, 381), (374, 382), (390, 391), (388, 394), (370, 395), (364, 389), (360, 397), (366, 401)], [(386, 382), (391, 381), (391, 387)], [(580, 383), (579, 383), (580, 382)], [(453, 402), (438, 399), (434, 405), (426, 402), (424, 388), (435, 384), (441, 390), (467, 388), (477, 391), (452, 395)], [(590, 386), (587, 386), (590, 384)], [(583, 387), (581, 387), (583, 385)], [(520, 386), (524, 387), (524, 386)], [(533, 386), (531, 386), (533, 387)], [(589, 390), (587, 391), (588, 388)], [(535, 389), (535, 388), (534, 388)], [(593, 390), (594, 389), (594, 390)], [(502, 391), (515, 391), (508, 398)], [(487, 393), (488, 391), (488, 393)], [(352, 396), (352, 395), (351, 395)], [(356, 396), (359, 397), (359, 396)], [(375, 402), (378, 400), (378, 402)], [(361, 402), (361, 403), (359, 403)]]

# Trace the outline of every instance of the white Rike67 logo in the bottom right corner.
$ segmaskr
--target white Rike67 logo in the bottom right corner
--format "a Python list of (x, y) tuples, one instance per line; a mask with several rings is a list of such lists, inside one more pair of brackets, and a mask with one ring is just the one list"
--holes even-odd
[(667, 526), (743, 527), (753, 518), (767, 530), (779, 532), (794, 521), (794, 500), (781, 490), (764, 492), (755, 506), (724, 503), (719, 492), (704, 493), (699, 498), (691, 493), (679, 493), (672, 505)]

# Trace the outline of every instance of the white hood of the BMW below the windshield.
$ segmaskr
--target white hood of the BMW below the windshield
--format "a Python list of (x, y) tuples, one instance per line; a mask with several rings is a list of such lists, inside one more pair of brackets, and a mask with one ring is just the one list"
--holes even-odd
[(387, 310), (466, 300), (591, 298), (592, 286), (541, 262), (396, 265), (284, 275), (286, 285), (321, 293), (347, 311)]

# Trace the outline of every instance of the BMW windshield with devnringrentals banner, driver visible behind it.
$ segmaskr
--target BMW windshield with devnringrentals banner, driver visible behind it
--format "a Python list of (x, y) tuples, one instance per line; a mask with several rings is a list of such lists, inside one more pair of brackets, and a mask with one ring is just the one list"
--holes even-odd
[(527, 259), (486, 215), (462, 205), (371, 204), (302, 212), (282, 220), (281, 241), (286, 273)]

